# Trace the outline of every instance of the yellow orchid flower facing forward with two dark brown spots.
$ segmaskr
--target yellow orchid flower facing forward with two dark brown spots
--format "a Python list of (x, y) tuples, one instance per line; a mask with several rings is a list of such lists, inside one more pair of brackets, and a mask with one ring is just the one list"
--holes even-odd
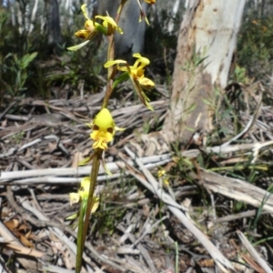
[(86, 125), (92, 128), (90, 137), (95, 140), (92, 146), (94, 149), (101, 148), (106, 150), (107, 143), (113, 140), (116, 131), (125, 130), (125, 128), (115, 126), (114, 119), (107, 108), (100, 110), (93, 122)]

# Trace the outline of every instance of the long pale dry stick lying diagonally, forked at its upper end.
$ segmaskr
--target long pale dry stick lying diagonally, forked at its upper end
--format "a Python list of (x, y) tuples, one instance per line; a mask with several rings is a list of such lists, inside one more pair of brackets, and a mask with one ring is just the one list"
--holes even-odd
[[(136, 177), (145, 187), (147, 187), (151, 192), (157, 195), (163, 202), (167, 203), (168, 209), (177, 217), (177, 219), (185, 226), (187, 229), (198, 239), (198, 241), (207, 249), (207, 252), (214, 259), (218, 268), (223, 272), (228, 272), (226, 268), (233, 269), (233, 266), (227, 258), (211, 243), (205, 234), (199, 230), (190, 219), (189, 216), (186, 216), (185, 210), (181, 211), (181, 206), (177, 204), (176, 201), (172, 199), (162, 188), (159, 187), (157, 180), (152, 174), (147, 170), (147, 168), (142, 164), (141, 160), (135, 156), (135, 154), (129, 150), (128, 147), (125, 147), (126, 153), (136, 160), (136, 164), (140, 167), (144, 175), (147, 177), (147, 180), (139, 174), (136, 174), (136, 171), (132, 171), (131, 168), (128, 170), (131, 175)], [(166, 200), (168, 202), (166, 202)], [(179, 209), (179, 208), (180, 209)], [(226, 267), (226, 268), (225, 268)]]

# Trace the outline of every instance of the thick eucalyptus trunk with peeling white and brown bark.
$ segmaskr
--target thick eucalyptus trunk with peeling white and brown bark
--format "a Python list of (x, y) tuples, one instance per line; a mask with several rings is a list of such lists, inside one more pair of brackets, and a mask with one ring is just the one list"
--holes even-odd
[(163, 126), (169, 141), (187, 142), (196, 130), (212, 129), (216, 88), (227, 86), (244, 6), (245, 0), (187, 1)]

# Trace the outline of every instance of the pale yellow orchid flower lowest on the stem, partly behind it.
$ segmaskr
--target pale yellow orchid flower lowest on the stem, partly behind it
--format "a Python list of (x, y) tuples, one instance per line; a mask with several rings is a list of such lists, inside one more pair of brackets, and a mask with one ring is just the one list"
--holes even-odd
[[(70, 205), (76, 204), (79, 201), (86, 202), (89, 195), (90, 178), (84, 177), (81, 181), (81, 187), (78, 192), (72, 192), (69, 194)], [(99, 197), (93, 197), (91, 213), (94, 213), (99, 205)]]

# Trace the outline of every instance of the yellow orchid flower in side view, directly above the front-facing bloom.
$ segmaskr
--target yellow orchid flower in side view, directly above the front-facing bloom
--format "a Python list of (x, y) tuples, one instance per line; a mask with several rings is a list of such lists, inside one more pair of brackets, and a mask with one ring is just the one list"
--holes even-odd
[(109, 66), (116, 65), (118, 70), (127, 72), (140, 100), (149, 109), (154, 110), (153, 107), (149, 104), (149, 98), (146, 96), (142, 89), (151, 89), (155, 86), (155, 83), (144, 75), (145, 68), (150, 64), (150, 61), (148, 58), (141, 56), (139, 53), (135, 53), (133, 56), (137, 58), (134, 66), (128, 66), (125, 60), (114, 60), (106, 62), (105, 67), (107, 68)]

